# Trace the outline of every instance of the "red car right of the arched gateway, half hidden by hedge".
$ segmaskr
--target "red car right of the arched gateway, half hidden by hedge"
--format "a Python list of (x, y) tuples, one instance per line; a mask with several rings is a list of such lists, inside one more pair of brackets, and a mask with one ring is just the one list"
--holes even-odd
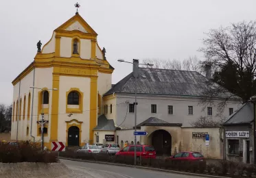
[(181, 153), (177, 153), (174, 156), (167, 158), (168, 160), (181, 160), (181, 161), (204, 161), (205, 157), (199, 153), (194, 151), (183, 151)]

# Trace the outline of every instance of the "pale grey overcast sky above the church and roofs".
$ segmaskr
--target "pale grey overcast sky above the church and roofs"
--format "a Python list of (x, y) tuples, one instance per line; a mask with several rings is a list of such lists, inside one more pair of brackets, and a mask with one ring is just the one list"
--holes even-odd
[[(12, 103), (12, 80), (36, 55), (52, 31), (75, 15), (77, 0), (1, 0), (0, 103)], [(80, 0), (79, 14), (97, 32), (115, 68), (113, 84), (132, 71), (119, 58), (203, 60), (204, 32), (239, 21), (255, 21), (255, 0)]]

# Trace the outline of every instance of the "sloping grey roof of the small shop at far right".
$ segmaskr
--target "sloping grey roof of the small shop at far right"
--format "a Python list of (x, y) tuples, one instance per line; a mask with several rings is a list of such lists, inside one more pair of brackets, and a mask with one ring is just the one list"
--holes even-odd
[(244, 105), (226, 119), (223, 125), (249, 124), (254, 119), (253, 113), (253, 103), (244, 103)]

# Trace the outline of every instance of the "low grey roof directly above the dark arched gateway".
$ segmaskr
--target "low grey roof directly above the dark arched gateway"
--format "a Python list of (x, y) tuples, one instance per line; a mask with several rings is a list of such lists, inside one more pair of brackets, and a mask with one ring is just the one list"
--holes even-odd
[(181, 123), (168, 123), (165, 120), (161, 120), (159, 118), (155, 118), (155, 117), (150, 117), (147, 120), (143, 121), (142, 123), (140, 123), (139, 125), (137, 125), (137, 127), (141, 127), (141, 126), (178, 126), (181, 127)]

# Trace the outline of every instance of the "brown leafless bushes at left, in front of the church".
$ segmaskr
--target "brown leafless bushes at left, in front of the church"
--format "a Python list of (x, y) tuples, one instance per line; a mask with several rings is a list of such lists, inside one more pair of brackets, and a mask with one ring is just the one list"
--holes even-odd
[(11, 145), (5, 142), (0, 144), (0, 162), (58, 162), (58, 153), (40, 151), (35, 143), (20, 142), (19, 145)]

